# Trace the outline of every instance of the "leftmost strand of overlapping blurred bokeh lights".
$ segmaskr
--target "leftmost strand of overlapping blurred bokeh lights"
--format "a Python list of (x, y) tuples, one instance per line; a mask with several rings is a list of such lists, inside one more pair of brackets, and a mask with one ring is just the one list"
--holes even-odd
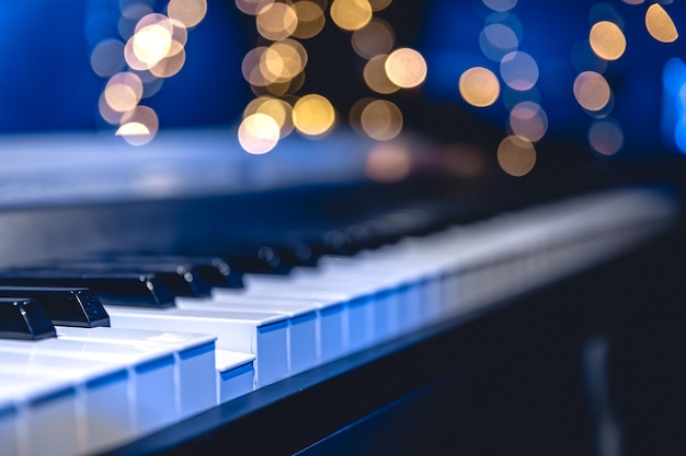
[(157, 135), (157, 114), (139, 103), (181, 71), (187, 32), (205, 17), (207, 2), (170, 0), (164, 10), (153, 12), (146, 0), (122, 1), (121, 36), (95, 43), (91, 51), (93, 72), (108, 78), (99, 101), (101, 118), (117, 125), (115, 135), (132, 145), (144, 145)]

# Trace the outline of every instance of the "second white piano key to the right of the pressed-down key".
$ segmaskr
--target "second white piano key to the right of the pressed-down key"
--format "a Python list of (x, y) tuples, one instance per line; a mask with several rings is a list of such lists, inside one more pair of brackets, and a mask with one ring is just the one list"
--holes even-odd
[(275, 305), (268, 297), (176, 297), (175, 302), (178, 308), (188, 311), (284, 314), (288, 317), (288, 374), (295, 375), (320, 364), (320, 313), (312, 303), (282, 301)]

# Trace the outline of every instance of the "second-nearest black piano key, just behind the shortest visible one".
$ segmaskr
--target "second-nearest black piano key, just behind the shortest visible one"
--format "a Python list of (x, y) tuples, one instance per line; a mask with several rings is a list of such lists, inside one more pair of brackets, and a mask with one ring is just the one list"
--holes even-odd
[(0, 287), (0, 297), (30, 297), (56, 326), (94, 328), (110, 326), (110, 315), (89, 289), (55, 287)]

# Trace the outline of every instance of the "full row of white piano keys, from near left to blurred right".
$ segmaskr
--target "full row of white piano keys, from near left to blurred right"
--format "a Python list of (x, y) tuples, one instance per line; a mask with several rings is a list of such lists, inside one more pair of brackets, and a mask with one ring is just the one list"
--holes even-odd
[[(284, 274), (247, 272), (243, 288), (175, 294), (170, 305), (117, 302), (107, 288), (108, 326), (53, 318), (54, 337), (0, 340), (2, 454), (116, 448), (366, 348), (495, 309), (651, 238), (676, 215), (660, 188), (615, 188)], [(61, 277), (68, 270), (56, 266)], [(85, 276), (46, 277), (8, 271), (0, 287), (88, 285)]]

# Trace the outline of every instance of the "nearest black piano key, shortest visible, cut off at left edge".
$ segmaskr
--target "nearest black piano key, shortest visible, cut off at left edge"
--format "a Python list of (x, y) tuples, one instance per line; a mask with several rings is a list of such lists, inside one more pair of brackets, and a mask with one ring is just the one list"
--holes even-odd
[(0, 299), (0, 338), (38, 340), (57, 337), (45, 309), (32, 299)]

